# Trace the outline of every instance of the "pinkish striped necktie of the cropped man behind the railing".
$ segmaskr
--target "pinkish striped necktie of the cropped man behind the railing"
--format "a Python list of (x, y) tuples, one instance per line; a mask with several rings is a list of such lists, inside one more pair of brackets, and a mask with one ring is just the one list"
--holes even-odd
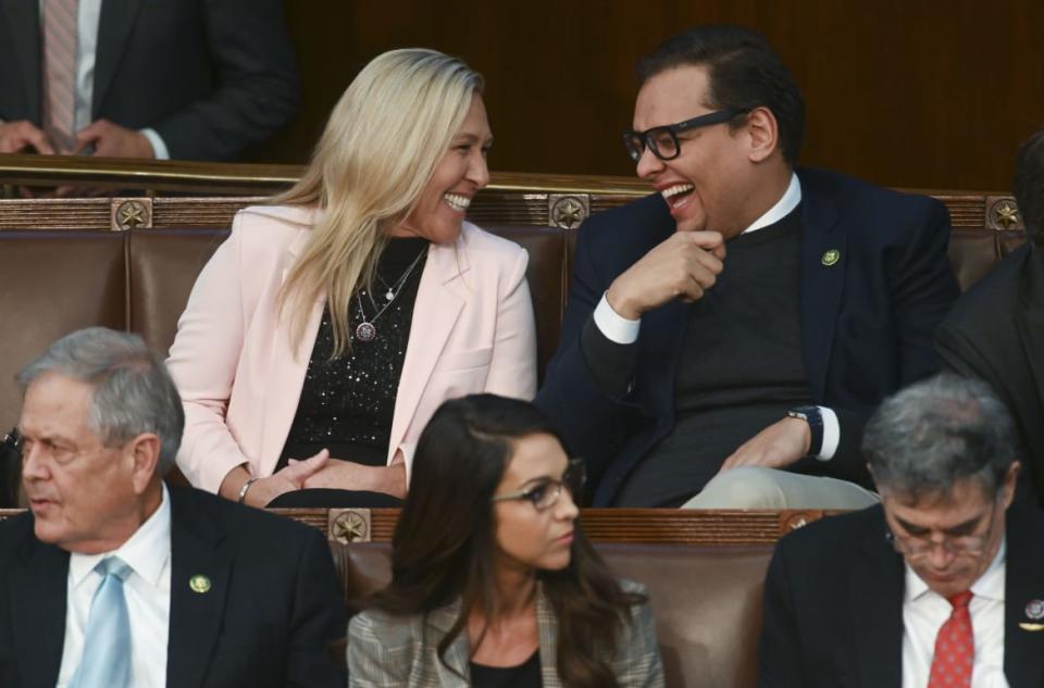
[(76, 147), (78, 0), (45, 0), (44, 129), (60, 153)]

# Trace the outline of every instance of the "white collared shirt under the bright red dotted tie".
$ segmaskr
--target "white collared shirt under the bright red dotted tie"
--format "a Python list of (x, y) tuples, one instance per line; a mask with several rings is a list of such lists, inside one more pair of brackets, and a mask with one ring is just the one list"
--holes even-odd
[[(975, 656), (972, 688), (1008, 688), (1004, 676), (1004, 577), (1006, 541), (990, 567), (971, 586), (968, 603)], [(935, 637), (953, 608), (906, 566), (903, 598), (903, 688), (924, 688), (932, 671)]]

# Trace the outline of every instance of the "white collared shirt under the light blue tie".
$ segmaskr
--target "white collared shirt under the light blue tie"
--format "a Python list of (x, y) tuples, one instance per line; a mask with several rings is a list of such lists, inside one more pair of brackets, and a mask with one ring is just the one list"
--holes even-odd
[(166, 643), (171, 618), (171, 496), (163, 486), (160, 508), (120, 549), (101, 554), (72, 553), (65, 605), (65, 648), (58, 687), (65, 688), (79, 666), (90, 602), (101, 585), (95, 566), (105, 556), (119, 556), (134, 572), (123, 584), (130, 618), (130, 685), (166, 685)]

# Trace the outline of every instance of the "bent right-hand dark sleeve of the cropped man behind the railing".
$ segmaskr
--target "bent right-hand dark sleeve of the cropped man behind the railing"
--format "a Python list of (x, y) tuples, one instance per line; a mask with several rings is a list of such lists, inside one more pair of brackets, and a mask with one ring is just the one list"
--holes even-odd
[(173, 159), (231, 160), (297, 112), (300, 87), (282, 0), (203, 2), (216, 89), (152, 123)]

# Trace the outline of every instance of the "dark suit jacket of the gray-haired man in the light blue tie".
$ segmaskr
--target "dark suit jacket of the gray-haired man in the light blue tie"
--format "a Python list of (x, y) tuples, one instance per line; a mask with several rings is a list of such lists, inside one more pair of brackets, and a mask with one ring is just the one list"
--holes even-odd
[[(322, 686), (347, 620), (330, 548), (308, 526), (171, 489), (170, 688)], [(206, 593), (189, 579), (211, 580)], [(69, 553), (33, 534), (30, 513), (0, 523), (0, 686), (51, 688), (65, 636)]]

